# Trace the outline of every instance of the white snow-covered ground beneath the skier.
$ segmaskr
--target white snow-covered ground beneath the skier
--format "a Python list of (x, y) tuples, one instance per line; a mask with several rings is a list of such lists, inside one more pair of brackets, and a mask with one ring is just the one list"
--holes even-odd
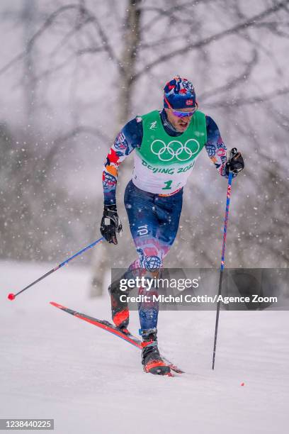
[(88, 297), (89, 269), (6, 299), (51, 267), (0, 262), (0, 418), (54, 418), (61, 434), (288, 432), (288, 311), (222, 311), (215, 372), (215, 313), (161, 312), (159, 342), (186, 374), (155, 377), (135, 347), (50, 306), (109, 319), (108, 296)]

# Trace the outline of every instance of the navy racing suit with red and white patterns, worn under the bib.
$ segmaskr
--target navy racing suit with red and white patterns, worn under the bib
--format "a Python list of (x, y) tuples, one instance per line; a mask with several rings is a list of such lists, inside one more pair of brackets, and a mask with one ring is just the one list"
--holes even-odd
[[(166, 116), (166, 111), (160, 113), (162, 125), (166, 133), (176, 137), (177, 132)], [(227, 148), (222, 141), (219, 128), (210, 116), (205, 116), (207, 141), (205, 150), (222, 177), (227, 177)], [(142, 145), (142, 118), (137, 117), (128, 122), (118, 134), (111, 150), (106, 157), (103, 169), (104, 204), (115, 204), (115, 189), (118, 178), (118, 167), (130, 153)], [(164, 257), (174, 243), (179, 228), (179, 219), (183, 203), (183, 188), (175, 194), (162, 195), (137, 188), (133, 181), (125, 190), (125, 208), (128, 213), (130, 231), (137, 249), (137, 260), (129, 269), (142, 269), (156, 272), (162, 268)], [(140, 289), (140, 294), (142, 294)], [(128, 312), (127, 312), (128, 315)], [(139, 304), (141, 330), (157, 327), (158, 306), (154, 304)], [(123, 323), (128, 324), (128, 318), (121, 315)]]

